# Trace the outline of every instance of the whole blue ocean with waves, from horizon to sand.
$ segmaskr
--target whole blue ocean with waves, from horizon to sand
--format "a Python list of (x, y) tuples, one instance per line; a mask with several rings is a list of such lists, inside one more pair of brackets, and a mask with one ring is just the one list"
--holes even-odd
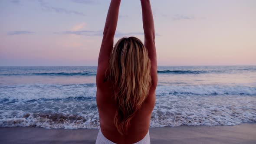
[[(99, 128), (97, 67), (0, 67), (0, 127)], [(159, 66), (150, 127), (256, 122), (256, 66)]]

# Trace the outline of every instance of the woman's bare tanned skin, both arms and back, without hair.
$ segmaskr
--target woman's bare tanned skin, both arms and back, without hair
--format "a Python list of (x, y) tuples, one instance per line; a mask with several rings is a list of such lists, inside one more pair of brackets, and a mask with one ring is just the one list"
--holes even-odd
[[(151, 114), (155, 105), (155, 89), (157, 86), (157, 58), (155, 49), (154, 20), (150, 0), (141, 0), (144, 28), (144, 45), (148, 49), (148, 56), (151, 59), (152, 85), (148, 97), (141, 109), (131, 120), (131, 126), (127, 135), (121, 135), (114, 124), (115, 111), (117, 106), (113, 99), (111, 83), (106, 80), (105, 72), (108, 68), (108, 59), (113, 48), (114, 35), (118, 21), (118, 12), (121, 0), (111, 0), (107, 20), (103, 32), (102, 46), (98, 58), (98, 70), (96, 75), (96, 100), (100, 117), (102, 134), (110, 141), (117, 144), (132, 144), (140, 141), (148, 133)], [(108, 72), (107, 72), (108, 75)]]

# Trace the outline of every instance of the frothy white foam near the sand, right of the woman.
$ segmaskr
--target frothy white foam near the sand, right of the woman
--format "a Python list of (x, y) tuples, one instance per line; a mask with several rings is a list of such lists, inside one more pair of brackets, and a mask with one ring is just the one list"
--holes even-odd
[(151, 127), (180, 125), (234, 125), (256, 122), (254, 96), (158, 97)]

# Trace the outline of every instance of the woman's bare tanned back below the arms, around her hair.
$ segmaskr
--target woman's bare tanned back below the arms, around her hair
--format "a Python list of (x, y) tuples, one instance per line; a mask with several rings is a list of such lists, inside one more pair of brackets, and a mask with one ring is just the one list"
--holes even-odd
[(113, 90), (109, 85), (111, 85), (110, 82), (105, 82), (101, 88), (97, 88), (96, 93), (102, 134), (117, 144), (133, 144), (140, 141), (148, 133), (151, 113), (155, 105), (154, 86), (151, 87), (148, 97), (136, 112), (135, 117), (132, 118), (128, 135), (122, 136), (114, 124), (117, 106), (113, 99)]

